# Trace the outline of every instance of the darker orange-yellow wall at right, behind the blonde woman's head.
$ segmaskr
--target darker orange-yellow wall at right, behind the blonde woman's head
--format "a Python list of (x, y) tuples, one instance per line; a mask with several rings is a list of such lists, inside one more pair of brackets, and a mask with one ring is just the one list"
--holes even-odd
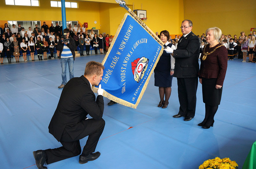
[(193, 32), (202, 35), (210, 27), (219, 27), (223, 34), (250, 34), (256, 27), (255, 0), (184, 1), (184, 18), (193, 22)]

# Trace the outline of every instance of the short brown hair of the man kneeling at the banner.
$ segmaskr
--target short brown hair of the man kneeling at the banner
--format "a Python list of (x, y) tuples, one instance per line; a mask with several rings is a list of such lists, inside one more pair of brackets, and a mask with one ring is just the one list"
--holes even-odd
[(89, 61), (88, 63), (86, 63), (86, 67), (84, 70), (84, 75), (100, 75), (101, 74), (101, 68), (105, 69), (105, 67), (99, 63), (99, 62), (95, 62), (95, 61)]

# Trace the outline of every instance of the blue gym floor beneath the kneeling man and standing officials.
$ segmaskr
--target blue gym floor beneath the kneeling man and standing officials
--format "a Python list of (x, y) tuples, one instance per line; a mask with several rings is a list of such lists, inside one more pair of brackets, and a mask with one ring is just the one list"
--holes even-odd
[[(88, 61), (101, 62), (104, 56), (76, 58), (75, 77), (84, 74)], [(196, 169), (207, 159), (228, 157), (242, 168), (256, 141), (256, 64), (241, 61), (228, 60), (214, 127), (197, 126), (204, 119), (200, 83), (196, 116), (185, 122), (172, 117), (179, 110), (177, 79), (172, 81), (169, 105), (162, 109), (157, 107), (160, 99), (153, 74), (137, 109), (108, 106), (109, 99), (104, 98), (106, 126), (96, 148), (101, 153), (97, 160), (82, 165), (76, 156), (47, 167)], [(0, 168), (36, 169), (33, 151), (61, 146), (48, 133), (61, 81), (59, 59), (0, 66)], [(81, 146), (86, 140), (80, 140)]]

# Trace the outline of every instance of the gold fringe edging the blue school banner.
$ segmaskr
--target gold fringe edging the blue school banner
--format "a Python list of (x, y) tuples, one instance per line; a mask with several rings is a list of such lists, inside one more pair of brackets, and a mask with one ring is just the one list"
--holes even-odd
[[(123, 27), (123, 25), (124, 25), (125, 19), (127, 18), (128, 15), (132, 17), (132, 15), (130, 15), (129, 13), (125, 13), (124, 18), (123, 18), (122, 21), (121, 21), (121, 24), (120, 24), (120, 25), (118, 26), (118, 28), (117, 28), (117, 31), (116, 31), (116, 34), (115, 34), (115, 36), (114, 36), (114, 39), (112, 40), (111, 46), (109, 47), (109, 50), (108, 50), (108, 52), (107, 52), (105, 58), (104, 58), (103, 61), (102, 61), (102, 65), (105, 64), (105, 62), (106, 62), (106, 60), (107, 60), (107, 58), (108, 58), (108, 55), (109, 55), (109, 53), (110, 53), (110, 51), (111, 51), (111, 49), (112, 49), (112, 46), (114, 46), (115, 41), (116, 41), (116, 38), (117, 38), (118, 34), (120, 33), (120, 31), (121, 31), (121, 29), (122, 29), (122, 27)], [(133, 18), (133, 17), (132, 17), (132, 18)], [(133, 19), (134, 19), (134, 18), (133, 18)], [(135, 20), (137, 23), (139, 23), (136, 19), (134, 19), (134, 20)], [(139, 24), (140, 24), (140, 23), (139, 23)], [(140, 24), (140, 26), (141, 26), (145, 31), (148, 32), (148, 30), (146, 30), (141, 24)], [(148, 32), (148, 34), (151, 35), (151, 33), (149, 33), (149, 32)], [(152, 36), (152, 35), (151, 35), (151, 36)], [(155, 39), (155, 38), (154, 38), (154, 39)], [(155, 40), (156, 40), (156, 39), (155, 39)], [(156, 40), (156, 42), (157, 42), (157, 40)], [(159, 43), (159, 42), (157, 42), (157, 43)], [(160, 43), (159, 43), (159, 44), (160, 44)], [(162, 44), (160, 44), (160, 45), (162, 46)], [(140, 102), (140, 99), (142, 98), (142, 96), (143, 96), (143, 94), (144, 94), (144, 92), (145, 92), (145, 90), (146, 90), (146, 88), (147, 88), (147, 86), (148, 86), (148, 82), (149, 82), (149, 80), (150, 80), (151, 75), (153, 74), (154, 69), (156, 68), (156, 64), (158, 63), (158, 60), (160, 59), (159, 56), (161, 56), (161, 55), (163, 54), (163, 51), (164, 51), (164, 48), (163, 48), (163, 46), (162, 46), (162, 48), (161, 48), (161, 50), (160, 50), (160, 52), (159, 52), (159, 54), (158, 54), (158, 56), (157, 56), (157, 58), (156, 58), (156, 62), (155, 62), (155, 64), (154, 64), (153, 68), (151, 69), (151, 71), (150, 71), (150, 73), (149, 73), (149, 75), (148, 75), (148, 78), (147, 78), (147, 80), (146, 80), (146, 82), (145, 82), (143, 88), (141, 89), (140, 95), (138, 96), (137, 102), (136, 102), (135, 104), (132, 104), (132, 103), (130, 103), (130, 102), (127, 102), (127, 101), (125, 101), (125, 100), (123, 100), (123, 99), (120, 99), (120, 98), (114, 96), (114, 95), (111, 95), (111, 94), (109, 94), (107, 91), (105, 91), (104, 89), (103, 89), (103, 90), (104, 90), (103, 96), (104, 96), (104, 97), (107, 97), (108, 99), (110, 99), (110, 100), (112, 100), (112, 101), (114, 101), (114, 102), (117, 102), (117, 103), (119, 103), (119, 104), (122, 104), (122, 105), (124, 105), (124, 106), (131, 107), (131, 108), (133, 108), (133, 109), (136, 109), (137, 106), (138, 106), (138, 104), (139, 104), (139, 102)], [(92, 86), (92, 91), (93, 91), (94, 93), (97, 93), (98, 88), (96, 88), (95, 86)]]

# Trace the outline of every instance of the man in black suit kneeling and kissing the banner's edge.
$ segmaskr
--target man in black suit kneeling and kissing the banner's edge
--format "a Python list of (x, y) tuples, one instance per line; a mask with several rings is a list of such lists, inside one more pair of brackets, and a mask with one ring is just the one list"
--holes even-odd
[[(49, 132), (62, 144), (62, 147), (33, 151), (36, 166), (41, 169), (47, 164), (81, 153), (79, 140), (89, 136), (79, 163), (97, 159), (100, 152), (95, 152), (96, 145), (105, 126), (102, 119), (104, 110), (103, 89), (98, 89), (97, 99), (92, 92), (92, 85), (99, 85), (104, 66), (95, 61), (86, 64), (84, 75), (68, 81), (62, 90), (60, 100), (49, 124)], [(95, 101), (96, 99), (96, 101)], [(92, 119), (86, 119), (87, 115)]]

